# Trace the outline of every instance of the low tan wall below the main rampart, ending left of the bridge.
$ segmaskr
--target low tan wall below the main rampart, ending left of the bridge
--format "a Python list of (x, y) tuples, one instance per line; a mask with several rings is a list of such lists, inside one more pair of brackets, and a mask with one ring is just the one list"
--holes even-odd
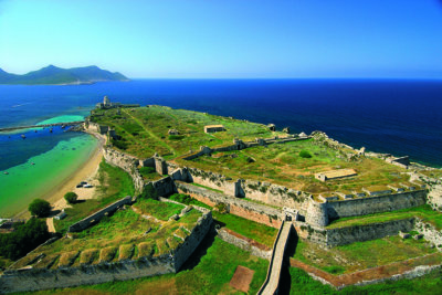
[(229, 197), (181, 181), (176, 181), (176, 186), (179, 192), (188, 193), (192, 198), (208, 206), (213, 207), (219, 203), (224, 203), (227, 204), (227, 209), (231, 214), (253, 220), (269, 226), (280, 228), (281, 222), (284, 219), (281, 210), (267, 206), (253, 203), (240, 198)]

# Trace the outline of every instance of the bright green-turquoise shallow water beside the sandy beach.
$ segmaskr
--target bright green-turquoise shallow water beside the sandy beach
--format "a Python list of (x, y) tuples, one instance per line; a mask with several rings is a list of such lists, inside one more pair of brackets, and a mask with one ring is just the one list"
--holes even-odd
[(27, 209), (34, 198), (44, 197), (84, 165), (96, 146), (97, 140), (93, 136), (80, 134), (59, 141), (54, 148), (31, 157), (25, 164), (9, 168), (9, 175), (2, 172), (0, 218), (12, 217)]

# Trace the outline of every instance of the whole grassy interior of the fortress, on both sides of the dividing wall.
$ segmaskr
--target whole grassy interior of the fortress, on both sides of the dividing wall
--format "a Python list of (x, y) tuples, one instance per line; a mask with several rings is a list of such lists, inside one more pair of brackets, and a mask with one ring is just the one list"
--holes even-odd
[[(113, 140), (114, 147), (139, 158), (147, 158), (158, 152), (168, 160), (175, 159), (181, 166), (219, 172), (233, 179), (270, 181), (311, 193), (336, 190), (360, 191), (365, 187), (409, 180), (402, 168), (381, 159), (361, 158), (350, 161), (346, 154), (351, 154), (351, 150), (346, 148), (335, 150), (322, 139), (214, 152), (188, 161), (182, 156), (189, 155), (190, 150), (198, 151), (201, 146), (230, 146), (234, 138), (254, 141), (255, 138), (286, 135), (270, 131), (262, 124), (164, 106), (124, 108), (120, 112), (122, 114), (117, 115), (116, 109), (95, 109), (95, 115), (91, 119), (114, 128), (120, 136), (120, 139)], [(225, 131), (206, 134), (203, 127), (212, 124), (222, 124)], [(180, 135), (169, 136), (169, 129), (177, 129)], [(302, 157), (302, 152), (311, 157)], [(344, 168), (352, 168), (358, 175), (327, 182), (314, 177), (320, 171)]]

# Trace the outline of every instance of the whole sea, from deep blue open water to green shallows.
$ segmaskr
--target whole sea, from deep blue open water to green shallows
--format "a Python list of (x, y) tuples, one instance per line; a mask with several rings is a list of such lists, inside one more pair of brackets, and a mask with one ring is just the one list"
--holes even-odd
[[(112, 102), (166, 105), (323, 130), (370, 151), (442, 167), (442, 80), (133, 80), (93, 85), (0, 85), (0, 127), (82, 119)], [(22, 139), (21, 135), (27, 138)], [(54, 127), (0, 134), (0, 218), (69, 178), (94, 137)], [(8, 172), (8, 175), (4, 173)]]

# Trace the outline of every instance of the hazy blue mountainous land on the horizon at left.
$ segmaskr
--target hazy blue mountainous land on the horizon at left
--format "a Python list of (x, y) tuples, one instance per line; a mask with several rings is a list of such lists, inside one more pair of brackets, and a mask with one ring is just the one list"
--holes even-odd
[(118, 72), (112, 73), (95, 65), (73, 69), (61, 69), (54, 65), (49, 65), (24, 75), (10, 74), (0, 69), (0, 84), (60, 85), (93, 84), (103, 81), (129, 80)]

